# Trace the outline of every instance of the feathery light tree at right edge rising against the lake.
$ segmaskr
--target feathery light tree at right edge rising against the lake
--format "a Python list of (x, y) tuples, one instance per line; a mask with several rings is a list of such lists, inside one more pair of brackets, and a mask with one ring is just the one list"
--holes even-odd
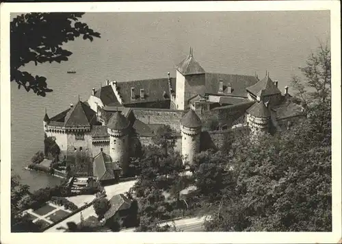
[[(293, 76), (291, 84), (297, 95), (300, 96), (304, 103), (307, 100), (326, 101), (330, 97), (331, 90), (331, 53), (328, 43), (326, 45), (320, 44), (317, 53), (311, 52), (306, 61), (306, 66), (300, 67), (300, 71), (305, 77), (302, 81), (300, 77)], [(306, 87), (313, 89), (313, 91), (306, 91)]]

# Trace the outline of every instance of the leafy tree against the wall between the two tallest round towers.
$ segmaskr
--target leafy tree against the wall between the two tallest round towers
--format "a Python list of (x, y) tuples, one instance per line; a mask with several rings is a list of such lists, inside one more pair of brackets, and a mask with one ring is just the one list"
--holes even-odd
[(173, 149), (174, 145), (176, 145), (174, 130), (172, 130), (170, 125), (163, 125), (157, 129), (152, 141), (164, 150), (164, 155), (166, 156), (168, 155), (169, 149)]

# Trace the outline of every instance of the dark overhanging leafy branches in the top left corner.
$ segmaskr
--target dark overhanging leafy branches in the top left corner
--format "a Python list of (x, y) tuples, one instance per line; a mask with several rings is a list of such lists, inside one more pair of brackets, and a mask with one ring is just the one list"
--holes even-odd
[(10, 67), (11, 82), (27, 92), (33, 90), (36, 95), (44, 97), (53, 91), (47, 87), (47, 78), (32, 75), (21, 68), (29, 62), (67, 61), (72, 52), (63, 49), (64, 43), (82, 36), (84, 40), (100, 38), (98, 32), (80, 21), (84, 13), (27, 13), (14, 18), (10, 23)]

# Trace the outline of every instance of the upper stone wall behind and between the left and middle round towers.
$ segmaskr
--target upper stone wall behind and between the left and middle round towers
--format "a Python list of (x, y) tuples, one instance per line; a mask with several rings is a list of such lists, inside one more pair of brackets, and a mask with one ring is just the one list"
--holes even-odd
[(135, 118), (146, 124), (170, 125), (176, 132), (180, 132), (179, 121), (183, 116), (183, 111), (154, 111), (154, 110), (134, 110)]

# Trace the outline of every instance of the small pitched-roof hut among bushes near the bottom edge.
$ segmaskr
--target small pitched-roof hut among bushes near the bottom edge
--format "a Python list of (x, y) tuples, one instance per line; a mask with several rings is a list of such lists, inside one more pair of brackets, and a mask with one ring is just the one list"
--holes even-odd
[(131, 208), (132, 201), (123, 194), (114, 195), (109, 200), (111, 207), (105, 213), (105, 222), (114, 223), (118, 222), (120, 226), (124, 223), (124, 219), (129, 217), (129, 210)]

